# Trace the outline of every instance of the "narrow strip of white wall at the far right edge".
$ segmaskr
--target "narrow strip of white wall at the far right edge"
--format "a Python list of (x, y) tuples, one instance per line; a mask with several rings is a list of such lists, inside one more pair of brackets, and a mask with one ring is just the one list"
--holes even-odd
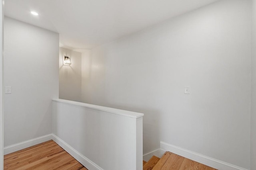
[(251, 170), (256, 169), (256, 0), (252, 1)]

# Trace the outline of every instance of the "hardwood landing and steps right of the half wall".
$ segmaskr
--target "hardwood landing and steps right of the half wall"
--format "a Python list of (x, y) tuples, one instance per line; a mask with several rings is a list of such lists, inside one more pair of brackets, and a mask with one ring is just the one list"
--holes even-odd
[[(159, 159), (159, 160), (158, 160)], [(156, 162), (156, 160), (158, 160)], [(172, 152), (165, 152), (162, 158), (153, 156), (143, 162), (143, 170), (216, 170), (204, 164), (184, 158)]]

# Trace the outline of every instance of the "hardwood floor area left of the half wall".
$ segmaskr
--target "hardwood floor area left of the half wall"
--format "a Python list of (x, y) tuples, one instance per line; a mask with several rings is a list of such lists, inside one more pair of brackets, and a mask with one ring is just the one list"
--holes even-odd
[(87, 170), (54, 141), (4, 156), (4, 170)]

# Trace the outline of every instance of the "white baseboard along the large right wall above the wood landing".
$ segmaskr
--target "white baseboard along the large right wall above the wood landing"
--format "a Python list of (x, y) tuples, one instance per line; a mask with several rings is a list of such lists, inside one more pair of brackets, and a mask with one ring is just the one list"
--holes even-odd
[(192, 152), (190, 150), (186, 150), (180, 147), (176, 147), (174, 145), (165, 143), (160, 141), (160, 149), (162, 150), (167, 150), (170, 151), (172, 153), (178, 154), (180, 156), (183, 156), (185, 158), (194, 160), (196, 162), (199, 162), (201, 164), (205, 164), (207, 166), (210, 166), (212, 168), (216, 168), (219, 170), (246, 170), (244, 168), (214, 159), (214, 158), (210, 158), (208, 156), (204, 156), (202, 154), (198, 154), (196, 152)]

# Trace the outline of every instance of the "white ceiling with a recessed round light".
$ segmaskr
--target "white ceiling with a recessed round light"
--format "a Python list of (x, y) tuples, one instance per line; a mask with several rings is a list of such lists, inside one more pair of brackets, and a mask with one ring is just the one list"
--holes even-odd
[[(60, 34), (60, 47), (92, 49), (216, 0), (5, 0), (4, 14)], [(38, 12), (33, 16), (30, 11)]]

